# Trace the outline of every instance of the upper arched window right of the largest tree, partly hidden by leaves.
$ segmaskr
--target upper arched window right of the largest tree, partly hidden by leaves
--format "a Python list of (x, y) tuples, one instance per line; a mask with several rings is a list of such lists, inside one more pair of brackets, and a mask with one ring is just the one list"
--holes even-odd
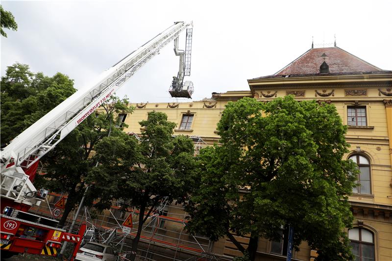
[(360, 194), (371, 194), (369, 160), (366, 157), (362, 156), (361, 154), (351, 155), (349, 159), (358, 165), (359, 171), (361, 172), (358, 175), (358, 183), (360, 185), (353, 188), (352, 191), (354, 193), (360, 193)]

